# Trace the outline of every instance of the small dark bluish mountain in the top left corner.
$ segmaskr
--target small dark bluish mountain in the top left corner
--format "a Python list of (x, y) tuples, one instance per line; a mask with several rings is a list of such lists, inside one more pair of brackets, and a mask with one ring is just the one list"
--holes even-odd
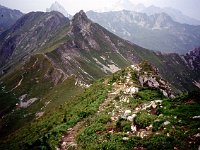
[(0, 34), (9, 29), (24, 14), (0, 5)]

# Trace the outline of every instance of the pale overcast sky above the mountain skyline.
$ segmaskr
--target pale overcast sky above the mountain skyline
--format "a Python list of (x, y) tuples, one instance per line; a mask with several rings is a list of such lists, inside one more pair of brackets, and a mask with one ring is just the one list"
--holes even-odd
[[(55, 0), (0, 0), (0, 4), (9, 8), (19, 9), (24, 13), (30, 11), (45, 11)], [(57, 0), (65, 9), (74, 14), (79, 10), (97, 10), (109, 7), (118, 0)], [(200, 20), (200, 0), (130, 0), (133, 3), (143, 3), (145, 6), (155, 5), (172, 7), (184, 14)]]

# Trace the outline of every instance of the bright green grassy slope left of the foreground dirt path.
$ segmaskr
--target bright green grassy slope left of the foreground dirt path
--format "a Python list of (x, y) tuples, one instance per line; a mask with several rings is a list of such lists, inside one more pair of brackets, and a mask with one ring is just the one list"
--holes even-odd
[[(6, 142), (6, 144), (3, 144), (3, 148), (54, 149), (68, 128), (75, 125), (82, 118), (96, 113), (99, 105), (106, 98), (109, 89), (102, 82), (103, 80), (96, 82), (79, 96), (74, 98), (65, 97), (64, 103), (58, 108), (50, 109), (43, 117), (32, 123), (27, 123), (23, 128), (17, 130), (14, 135), (8, 136), (6, 140), (4, 139), (3, 142)], [(54, 90), (56, 89), (59, 89), (59, 87)], [(54, 90), (48, 94), (53, 94)], [(53, 95), (59, 96), (59, 94)], [(62, 98), (62, 96), (59, 97)], [(51, 98), (53, 97), (51, 96)]]

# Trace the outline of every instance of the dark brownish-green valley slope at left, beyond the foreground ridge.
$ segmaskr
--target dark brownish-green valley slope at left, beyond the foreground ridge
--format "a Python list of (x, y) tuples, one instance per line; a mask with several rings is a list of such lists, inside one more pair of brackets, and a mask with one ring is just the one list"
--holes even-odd
[[(38, 60), (37, 63), (35, 63), (36, 60)], [(32, 121), (36, 113), (48, 112), (59, 107), (66, 99), (83, 91), (83, 88), (75, 85), (74, 76), (55, 86), (52, 79), (45, 78), (47, 72), (53, 71), (55, 68), (43, 55), (36, 55), (22, 69), (3, 79), (1, 86), (5, 86), (5, 90), (1, 90), (0, 93), (1, 116), (4, 115), (1, 119), (1, 138)], [(22, 75), (21, 85), (11, 91), (19, 83)], [(9, 92), (6, 93), (6, 91)], [(15, 104), (19, 103), (18, 98), (23, 94), (28, 94), (28, 99), (36, 97), (39, 100), (27, 108), (17, 109)]]

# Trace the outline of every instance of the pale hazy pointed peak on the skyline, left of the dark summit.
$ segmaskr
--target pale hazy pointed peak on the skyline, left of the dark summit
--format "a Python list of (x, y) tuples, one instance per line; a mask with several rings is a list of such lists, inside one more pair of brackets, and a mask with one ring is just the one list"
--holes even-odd
[(65, 8), (60, 5), (57, 1), (55, 1), (50, 8), (46, 9), (47, 12), (50, 11), (58, 11), (60, 13), (62, 13), (65, 17), (67, 18), (72, 18), (72, 16), (65, 10)]

